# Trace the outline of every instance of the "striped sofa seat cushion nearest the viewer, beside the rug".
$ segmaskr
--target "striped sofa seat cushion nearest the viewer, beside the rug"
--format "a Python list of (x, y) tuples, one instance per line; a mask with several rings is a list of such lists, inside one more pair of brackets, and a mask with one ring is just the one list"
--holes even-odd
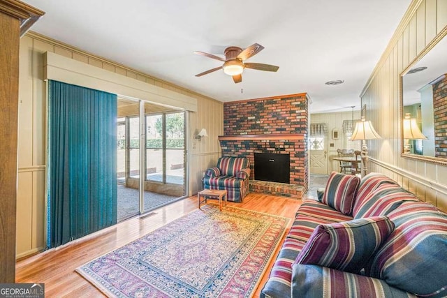
[(286, 238), (274, 261), (267, 283), (261, 291), (261, 297), (290, 296), (292, 280), (292, 263), (305, 243), (297, 239)]

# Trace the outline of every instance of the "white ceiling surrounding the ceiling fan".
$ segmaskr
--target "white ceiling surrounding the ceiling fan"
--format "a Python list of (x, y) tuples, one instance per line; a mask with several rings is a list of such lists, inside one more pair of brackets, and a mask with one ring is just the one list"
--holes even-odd
[[(360, 110), (360, 92), (411, 0), (24, 0), (46, 14), (31, 29), (217, 100), (307, 92), (311, 112)], [(124, 4), (125, 3), (125, 4)], [(218, 70), (235, 45), (265, 49), (242, 83)], [(344, 84), (328, 86), (329, 80)]]

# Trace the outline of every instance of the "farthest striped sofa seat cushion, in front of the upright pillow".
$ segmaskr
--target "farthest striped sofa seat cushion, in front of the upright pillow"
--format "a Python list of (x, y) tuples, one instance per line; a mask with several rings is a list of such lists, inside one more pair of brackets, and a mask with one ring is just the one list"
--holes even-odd
[(298, 214), (321, 218), (325, 221), (332, 221), (334, 223), (338, 223), (340, 221), (351, 221), (353, 219), (352, 216), (344, 215), (332, 207), (329, 207), (327, 204), (323, 204), (315, 200), (307, 200), (302, 202), (297, 211), (297, 216)]

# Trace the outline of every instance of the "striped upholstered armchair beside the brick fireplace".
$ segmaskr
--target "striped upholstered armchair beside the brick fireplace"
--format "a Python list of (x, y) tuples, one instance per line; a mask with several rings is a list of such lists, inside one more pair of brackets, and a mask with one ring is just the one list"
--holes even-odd
[(221, 157), (203, 178), (205, 189), (226, 190), (228, 201), (242, 202), (249, 193), (250, 161), (244, 157)]

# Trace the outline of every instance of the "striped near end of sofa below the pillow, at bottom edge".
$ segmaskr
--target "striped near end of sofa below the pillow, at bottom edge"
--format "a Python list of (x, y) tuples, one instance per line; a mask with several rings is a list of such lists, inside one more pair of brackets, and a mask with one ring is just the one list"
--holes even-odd
[(293, 265), (291, 297), (416, 297), (385, 281), (318, 265)]

